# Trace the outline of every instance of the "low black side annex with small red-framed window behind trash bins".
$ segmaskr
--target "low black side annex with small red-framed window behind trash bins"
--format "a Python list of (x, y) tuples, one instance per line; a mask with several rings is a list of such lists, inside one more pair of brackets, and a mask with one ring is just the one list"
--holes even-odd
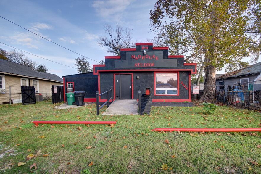
[[(98, 91), (98, 75), (93, 72), (62, 76), (64, 79), (64, 91), (85, 91), (84, 102), (96, 102), (96, 91)], [(64, 94), (65, 95), (65, 94)], [(65, 97), (66, 99), (66, 97)]]

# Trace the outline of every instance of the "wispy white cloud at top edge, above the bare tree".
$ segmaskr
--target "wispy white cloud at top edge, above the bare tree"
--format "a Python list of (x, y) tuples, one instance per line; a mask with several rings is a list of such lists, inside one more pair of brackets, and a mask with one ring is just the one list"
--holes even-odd
[(130, 3), (131, 0), (96, 0), (92, 6), (102, 17), (114, 16), (118, 18), (120, 17), (120, 14), (125, 11), (127, 6), (130, 5)]

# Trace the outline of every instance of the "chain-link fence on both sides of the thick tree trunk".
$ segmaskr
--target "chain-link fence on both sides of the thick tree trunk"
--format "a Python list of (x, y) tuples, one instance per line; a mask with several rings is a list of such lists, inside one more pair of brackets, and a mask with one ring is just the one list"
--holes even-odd
[[(192, 85), (191, 99), (199, 100), (204, 88), (206, 88), (204, 85)], [(261, 109), (261, 81), (215, 85), (215, 99), (210, 102), (259, 110)]]

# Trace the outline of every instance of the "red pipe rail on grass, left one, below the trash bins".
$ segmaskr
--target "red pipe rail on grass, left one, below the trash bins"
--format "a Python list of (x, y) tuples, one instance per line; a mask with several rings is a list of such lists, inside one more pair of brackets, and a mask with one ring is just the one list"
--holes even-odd
[(116, 121), (33, 121), (35, 125), (40, 124), (116, 124)]

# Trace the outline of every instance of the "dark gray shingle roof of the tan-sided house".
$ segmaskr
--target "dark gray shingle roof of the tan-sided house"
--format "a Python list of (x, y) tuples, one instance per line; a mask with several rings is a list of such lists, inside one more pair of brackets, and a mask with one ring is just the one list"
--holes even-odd
[(26, 65), (21, 65), (8, 60), (0, 59), (0, 72), (11, 73), (15, 75), (24, 75), (34, 78), (41, 78), (46, 80), (63, 82), (63, 79), (55, 74), (50, 74), (46, 72), (39, 72), (33, 70), (31, 67)]

